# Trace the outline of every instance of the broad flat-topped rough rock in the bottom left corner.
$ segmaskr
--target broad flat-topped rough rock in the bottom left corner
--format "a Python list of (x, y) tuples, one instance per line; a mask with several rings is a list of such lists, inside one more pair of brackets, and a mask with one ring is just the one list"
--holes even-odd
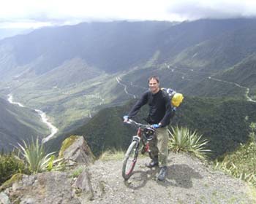
[(38, 173), (23, 177), (13, 185), (15, 190), (10, 189), (9, 195), (12, 203), (80, 203), (72, 196), (72, 178), (69, 173)]

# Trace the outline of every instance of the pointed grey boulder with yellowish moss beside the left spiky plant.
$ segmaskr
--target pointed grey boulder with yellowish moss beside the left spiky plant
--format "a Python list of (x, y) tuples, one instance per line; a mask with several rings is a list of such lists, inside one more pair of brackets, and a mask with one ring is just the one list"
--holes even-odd
[(83, 136), (70, 136), (61, 146), (59, 157), (64, 158), (69, 165), (91, 165), (94, 162), (94, 154), (84, 140)]

